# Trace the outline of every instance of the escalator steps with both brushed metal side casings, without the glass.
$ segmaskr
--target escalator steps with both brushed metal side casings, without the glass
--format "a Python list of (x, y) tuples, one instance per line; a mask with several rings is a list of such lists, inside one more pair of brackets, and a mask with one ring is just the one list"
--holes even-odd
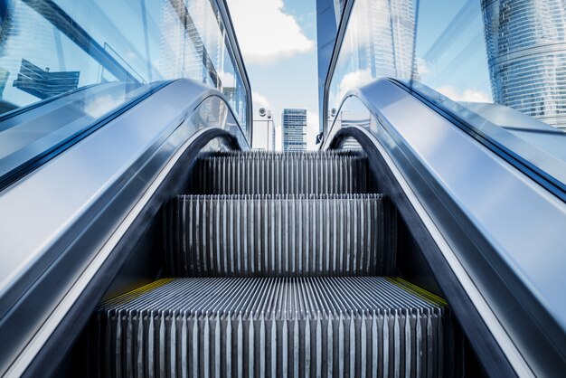
[[(216, 91), (175, 80), (6, 184), (2, 373), (557, 372), (560, 325), (494, 222), (529, 230), (563, 203), (394, 82), (343, 110), (320, 151), (255, 151)], [(450, 149), (481, 163), (455, 171)], [(485, 207), (482, 181), (522, 196)], [(530, 218), (506, 215), (535, 202)]]

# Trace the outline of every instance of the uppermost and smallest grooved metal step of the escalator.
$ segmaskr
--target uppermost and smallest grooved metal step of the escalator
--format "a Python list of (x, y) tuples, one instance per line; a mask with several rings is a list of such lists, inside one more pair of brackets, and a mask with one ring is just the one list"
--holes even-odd
[(351, 151), (236, 151), (201, 156), (198, 194), (367, 192), (367, 157)]

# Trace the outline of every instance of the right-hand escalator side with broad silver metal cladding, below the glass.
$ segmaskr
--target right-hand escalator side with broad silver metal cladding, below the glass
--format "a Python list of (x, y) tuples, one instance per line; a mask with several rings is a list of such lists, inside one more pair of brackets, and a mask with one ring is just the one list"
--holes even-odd
[[(397, 169), (402, 175), (406, 175), (403, 179), (410, 182), (411, 190), (418, 194), (417, 198), (428, 212), (427, 216), (431, 217), (432, 222), (437, 223), (442, 234), (446, 235), (443, 236), (443, 239), (449, 241), (448, 245), (455, 251), (458, 260), (484, 259), (484, 262), (474, 267), (467, 265), (469, 262), (467, 261), (464, 269), (476, 269), (470, 276), (474, 280), (474, 285), (480, 288), (483, 297), (489, 298), (491, 303), (488, 303), (488, 306), (497, 308), (496, 311), (494, 310), (496, 322), (504, 322), (502, 325), (505, 326), (505, 334), (510, 332), (512, 337), (510, 345), (516, 345), (513, 348), (521, 348), (520, 354), (515, 355), (524, 355), (515, 361), (525, 359), (529, 362), (529, 369), (533, 369), (534, 372), (548, 373), (549, 369), (552, 371), (552, 366), (556, 367), (558, 361), (563, 362), (566, 354), (566, 350), (561, 347), (565, 345), (562, 341), (566, 340), (566, 318), (562, 311), (565, 302), (553, 289), (556, 285), (561, 286), (564, 283), (563, 275), (557, 274), (557, 269), (564, 266), (566, 259), (559, 253), (560, 250), (554, 248), (560, 245), (563, 247), (563, 243), (560, 244), (563, 238), (557, 239), (557, 233), (563, 229), (561, 225), (566, 224), (564, 203), (546, 188), (533, 183), (530, 176), (522, 175), (522, 171), (505, 159), (501, 159), (491, 149), (484, 148), (483, 144), (478, 143), (476, 137), (470, 140), (471, 136), (467, 133), (463, 134), (460, 128), (453, 125), (448, 118), (416, 98), (414, 93), (403, 90), (391, 80), (376, 80), (360, 89), (351, 90), (344, 97), (339, 113), (346, 109), (344, 106), (350, 98), (361, 101), (364, 109), (371, 115), (370, 117), (374, 118), (374, 122), (369, 122), (368, 119), (364, 125), (360, 124), (360, 126), (355, 126), (355, 122), (344, 122), (343, 125), (342, 120), (336, 117), (323, 148), (340, 146), (340, 140), (354, 136), (356, 128), (361, 128), (365, 134), (372, 135), (375, 139), (374, 143), (382, 145), (391, 155), (393, 164), (399, 165)], [(400, 109), (403, 109), (402, 112)], [(422, 119), (418, 116), (427, 118)], [(420, 128), (414, 127), (415, 122), (422, 124), (418, 125)], [(439, 134), (439, 137), (442, 139), (434, 137), (437, 135), (434, 133), (435, 128), (430, 127), (435, 127), (435, 125), (430, 122), (441, 125), (441, 128), (437, 129), (441, 131), (442, 134)], [(387, 136), (389, 140), (382, 140), (382, 136)], [(503, 211), (501, 215), (494, 217), (490, 215), (493, 211), (481, 212), (482, 206), (486, 206), (486, 203), (481, 203), (482, 199), (477, 197), (479, 194), (468, 192), (464, 195), (464, 188), (468, 184), (463, 186), (461, 180), (465, 178), (462, 177), (461, 172), (452, 171), (451, 174), (448, 174), (451, 177), (443, 176), (449, 169), (454, 169), (458, 157), (444, 156), (445, 162), (438, 160), (441, 154), (435, 154), (435, 151), (442, 150), (436, 144), (441, 141), (448, 143), (447, 138), (451, 138), (449, 143), (452, 143), (457, 140), (454, 139), (455, 137), (461, 141), (458, 143), (467, 146), (469, 151), (471, 151), (470, 148), (473, 148), (476, 154), (482, 155), (481, 157), (467, 156), (469, 164), (463, 165), (464, 170), (481, 171), (480, 175), (483, 175), (486, 165), (482, 163), (487, 161), (498, 167), (492, 170), (489, 176), (474, 176), (467, 183), (472, 183), (476, 185), (474, 187), (481, 188), (481, 191), (485, 192), (490, 188), (496, 188), (497, 182), (486, 185), (482, 180), (493, 178), (493, 172), (505, 172), (505, 178), (501, 178), (506, 180), (503, 184), (519, 185), (514, 186), (513, 191), (506, 187), (505, 192), (496, 192), (496, 189), (495, 192), (492, 192), (492, 194), (504, 195), (505, 201), (491, 203), (490, 207), (496, 208), (498, 212)], [(424, 141), (411, 144), (420, 139)], [(405, 163), (401, 162), (401, 158), (405, 160)], [(436, 160), (427, 160), (431, 158)], [(476, 177), (480, 178), (481, 184), (476, 184)], [(459, 183), (458, 180), (460, 180)], [(422, 186), (415, 186), (414, 183), (420, 183)], [(507, 192), (514, 193), (517, 197)], [(473, 196), (476, 196), (476, 200), (467, 202)], [(518, 209), (522, 209), (523, 213), (527, 212), (529, 207), (525, 207), (525, 203), (527, 205), (533, 203), (531, 200), (535, 201), (537, 206), (543, 205), (543, 207), (537, 207), (538, 213), (531, 212), (530, 217), (515, 216), (513, 219), (508, 219), (507, 214), (514, 213)], [(470, 203), (477, 201), (480, 202), (479, 207), (470, 207)], [(444, 221), (442, 216), (444, 216)], [(454, 221), (447, 225), (445, 221), (450, 217), (454, 218)], [(500, 218), (503, 219), (502, 217), (507, 217), (505, 219), (513, 222), (513, 226), (507, 224), (507, 228), (491, 228), (494, 222), (499, 222)], [(548, 219), (558, 223), (551, 225)], [(531, 232), (525, 231), (528, 230), (530, 224), (540, 222), (542, 222), (542, 227), (531, 228)], [(517, 225), (520, 227), (515, 228)], [(458, 240), (462, 237), (466, 241)], [(539, 250), (527, 249), (526, 246), (533, 243), (539, 245)], [(533, 256), (533, 253), (541, 256), (538, 264), (526, 262), (532, 261), (530, 256)], [(486, 268), (490, 264), (489, 271), (480, 270), (481, 267)], [(498, 285), (490, 286), (490, 282), (495, 281), (499, 282)], [(502, 285), (505, 286), (505, 289)], [(505, 297), (502, 293), (507, 293), (509, 296), (502, 298)], [(499, 296), (498, 302), (494, 302), (494, 295)], [(513, 316), (507, 313), (509, 308), (515, 308), (516, 312)], [(527, 334), (524, 333), (525, 328), (521, 326), (527, 326), (528, 329), (533, 330), (528, 334), (528, 342), (525, 342), (524, 339), (527, 337)], [(550, 361), (552, 363), (549, 363)], [(518, 364), (518, 366), (521, 365), (524, 364)]]

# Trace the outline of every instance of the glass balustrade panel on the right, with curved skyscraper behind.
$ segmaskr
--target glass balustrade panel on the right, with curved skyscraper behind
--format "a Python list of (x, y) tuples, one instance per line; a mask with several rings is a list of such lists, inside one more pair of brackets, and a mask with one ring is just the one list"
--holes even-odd
[(566, 0), (356, 0), (329, 123), (348, 90), (384, 77), (566, 185)]

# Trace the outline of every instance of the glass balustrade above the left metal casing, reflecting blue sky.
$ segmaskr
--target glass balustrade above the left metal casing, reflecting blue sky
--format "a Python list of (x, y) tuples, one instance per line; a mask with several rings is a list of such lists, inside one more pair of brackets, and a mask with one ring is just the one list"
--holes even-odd
[(0, 176), (167, 80), (220, 90), (249, 134), (250, 87), (223, 6), (216, 0), (0, 2)]

